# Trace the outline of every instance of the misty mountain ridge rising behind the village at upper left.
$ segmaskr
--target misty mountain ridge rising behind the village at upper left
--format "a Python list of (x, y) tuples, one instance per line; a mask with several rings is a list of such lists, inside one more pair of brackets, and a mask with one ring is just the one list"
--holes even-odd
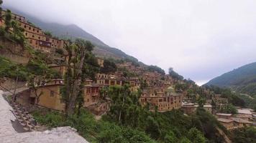
[[(7, 8), (4, 7), (4, 9), (7, 9)], [(93, 36), (92, 34), (89, 34), (88, 32), (81, 29), (79, 26), (76, 26), (75, 24), (64, 25), (64, 24), (58, 24), (58, 23), (47, 23), (45, 21), (41, 21), (40, 19), (37, 19), (34, 16), (26, 14), (25, 12), (19, 11), (12, 7), (8, 7), (8, 9), (11, 9), (12, 12), (16, 14), (25, 16), (29, 22), (31, 22), (32, 24), (35, 24), (36, 26), (39, 26), (44, 31), (50, 31), (53, 36), (58, 36), (63, 39), (82, 38), (82, 39), (91, 41), (96, 46), (93, 52), (97, 56), (106, 57), (106, 58), (111, 57), (114, 59), (132, 59), (137, 61), (137, 59), (134, 58), (133, 56), (129, 56), (119, 49), (116, 49), (114, 47), (104, 44), (103, 41), (101, 41), (100, 39), (97, 39), (95, 36)]]

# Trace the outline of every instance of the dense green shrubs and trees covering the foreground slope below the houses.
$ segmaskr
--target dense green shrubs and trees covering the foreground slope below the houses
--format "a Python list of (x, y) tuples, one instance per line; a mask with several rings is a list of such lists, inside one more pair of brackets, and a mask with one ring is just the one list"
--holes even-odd
[[(204, 109), (193, 117), (184, 116), (178, 110), (150, 112), (133, 102), (136, 94), (127, 94), (132, 97), (121, 95), (125, 87), (112, 87), (109, 90), (119, 94), (112, 97), (116, 98), (116, 102), (111, 112), (99, 121), (84, 109), (81, 109), (80, 115), (68, 117), (59, 112), (42, 111), (33, 115), (37, 122), (48, 127), (74, 127), (89, 142), (223, 142), (216, 127), (227, 131)], [(124, 105), (122, 101), (126, 101)], [(121, 118), (119, 113), (122, 113)]]

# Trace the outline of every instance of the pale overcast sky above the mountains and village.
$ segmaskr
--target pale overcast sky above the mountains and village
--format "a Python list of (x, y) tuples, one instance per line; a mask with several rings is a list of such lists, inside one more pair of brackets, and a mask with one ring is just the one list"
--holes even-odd
[(197, 84), (256, 61), (255, 0), (5, 0)]

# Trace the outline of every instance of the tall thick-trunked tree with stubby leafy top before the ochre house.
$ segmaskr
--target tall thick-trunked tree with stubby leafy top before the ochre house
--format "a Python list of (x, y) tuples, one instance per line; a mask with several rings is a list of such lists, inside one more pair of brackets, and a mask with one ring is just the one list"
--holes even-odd
[[(76, 109), (78, 97), (81, 97), (83, 90), (84, 67), (86, 66), (86, 54), (93, 50), (90, 41), (76, 39), (65, 43), (65, 50), (68, 51), (68, 66), (65, 73), (65, 86), (62, 89), (63, 100), (65, 101), (65, 114), (71, 115)], [(79, 106), (78, 106), (79, 107)]]

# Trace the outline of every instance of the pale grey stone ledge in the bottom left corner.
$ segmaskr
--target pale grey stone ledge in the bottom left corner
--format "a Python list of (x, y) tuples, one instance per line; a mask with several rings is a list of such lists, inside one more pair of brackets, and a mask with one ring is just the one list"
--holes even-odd
[(88, 143), (71, 127), (58, 127), (45, 132), (17, 132), (12, 121), (16, 120), (12, 114), (12, 107), (2, 96), (0, 90), (0, 139), (2, 143)]

